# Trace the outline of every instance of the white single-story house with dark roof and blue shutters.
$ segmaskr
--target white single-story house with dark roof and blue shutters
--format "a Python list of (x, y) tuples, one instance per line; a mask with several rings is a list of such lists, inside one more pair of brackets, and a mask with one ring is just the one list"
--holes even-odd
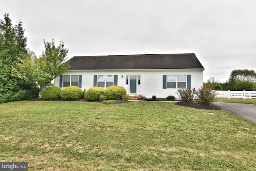
[(203, 71), (195, 54), (74, 56), (70, 69), (55, 79), (55, 86), (74, 85), (84, 90), (119, 85), (130, 96), (178, 98), (180, 88), (203, 86)]

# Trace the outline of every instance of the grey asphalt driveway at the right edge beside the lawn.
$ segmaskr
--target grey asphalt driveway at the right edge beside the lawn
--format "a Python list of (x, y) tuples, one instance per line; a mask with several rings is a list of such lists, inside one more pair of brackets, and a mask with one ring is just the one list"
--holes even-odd
[(256, 123), (256, 105), (242, 103), (216, 103), (214, 105)]

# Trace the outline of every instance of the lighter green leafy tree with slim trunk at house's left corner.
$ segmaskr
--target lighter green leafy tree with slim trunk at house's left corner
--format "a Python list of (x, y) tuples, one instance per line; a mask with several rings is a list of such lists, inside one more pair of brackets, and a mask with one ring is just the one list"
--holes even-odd
[(29, 52), (24, 58), (18, 58), (17, 67), (12, 68), (13, 75), (18, 78), (26, 82), (36, 82), (41, 97), (44, 87), (70, 68), (70, 61), (65, 62), (68, 49), (64, 48), (64, 42), (60, 42), (56, 47), (54, 39), (52, 42), (44, 40), (44, 48), (39, 58), (36, 58), (33, 52)]

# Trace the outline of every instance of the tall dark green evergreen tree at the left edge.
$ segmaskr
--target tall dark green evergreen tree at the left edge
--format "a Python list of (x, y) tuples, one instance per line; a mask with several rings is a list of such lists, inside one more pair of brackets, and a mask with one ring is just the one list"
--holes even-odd
[(33, 85), (11, 74), (17, 57), (22, 58), (22, 54), (27, 53), (24, 31), (21, 21), (12, 26), (8, 13), (4, 14), (4, 20), (0, 20), (0, 103), (26, 99), (29, 93), (32, 95), (29, 91)]

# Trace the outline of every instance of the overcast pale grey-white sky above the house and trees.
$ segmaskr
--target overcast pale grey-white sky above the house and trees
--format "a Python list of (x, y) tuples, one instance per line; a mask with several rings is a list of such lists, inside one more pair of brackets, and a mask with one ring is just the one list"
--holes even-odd
[(73, 56), (195, 53), (204, 81), (256, 71), (255, 0), (1, 0), (37, 56), (43, 39)]

